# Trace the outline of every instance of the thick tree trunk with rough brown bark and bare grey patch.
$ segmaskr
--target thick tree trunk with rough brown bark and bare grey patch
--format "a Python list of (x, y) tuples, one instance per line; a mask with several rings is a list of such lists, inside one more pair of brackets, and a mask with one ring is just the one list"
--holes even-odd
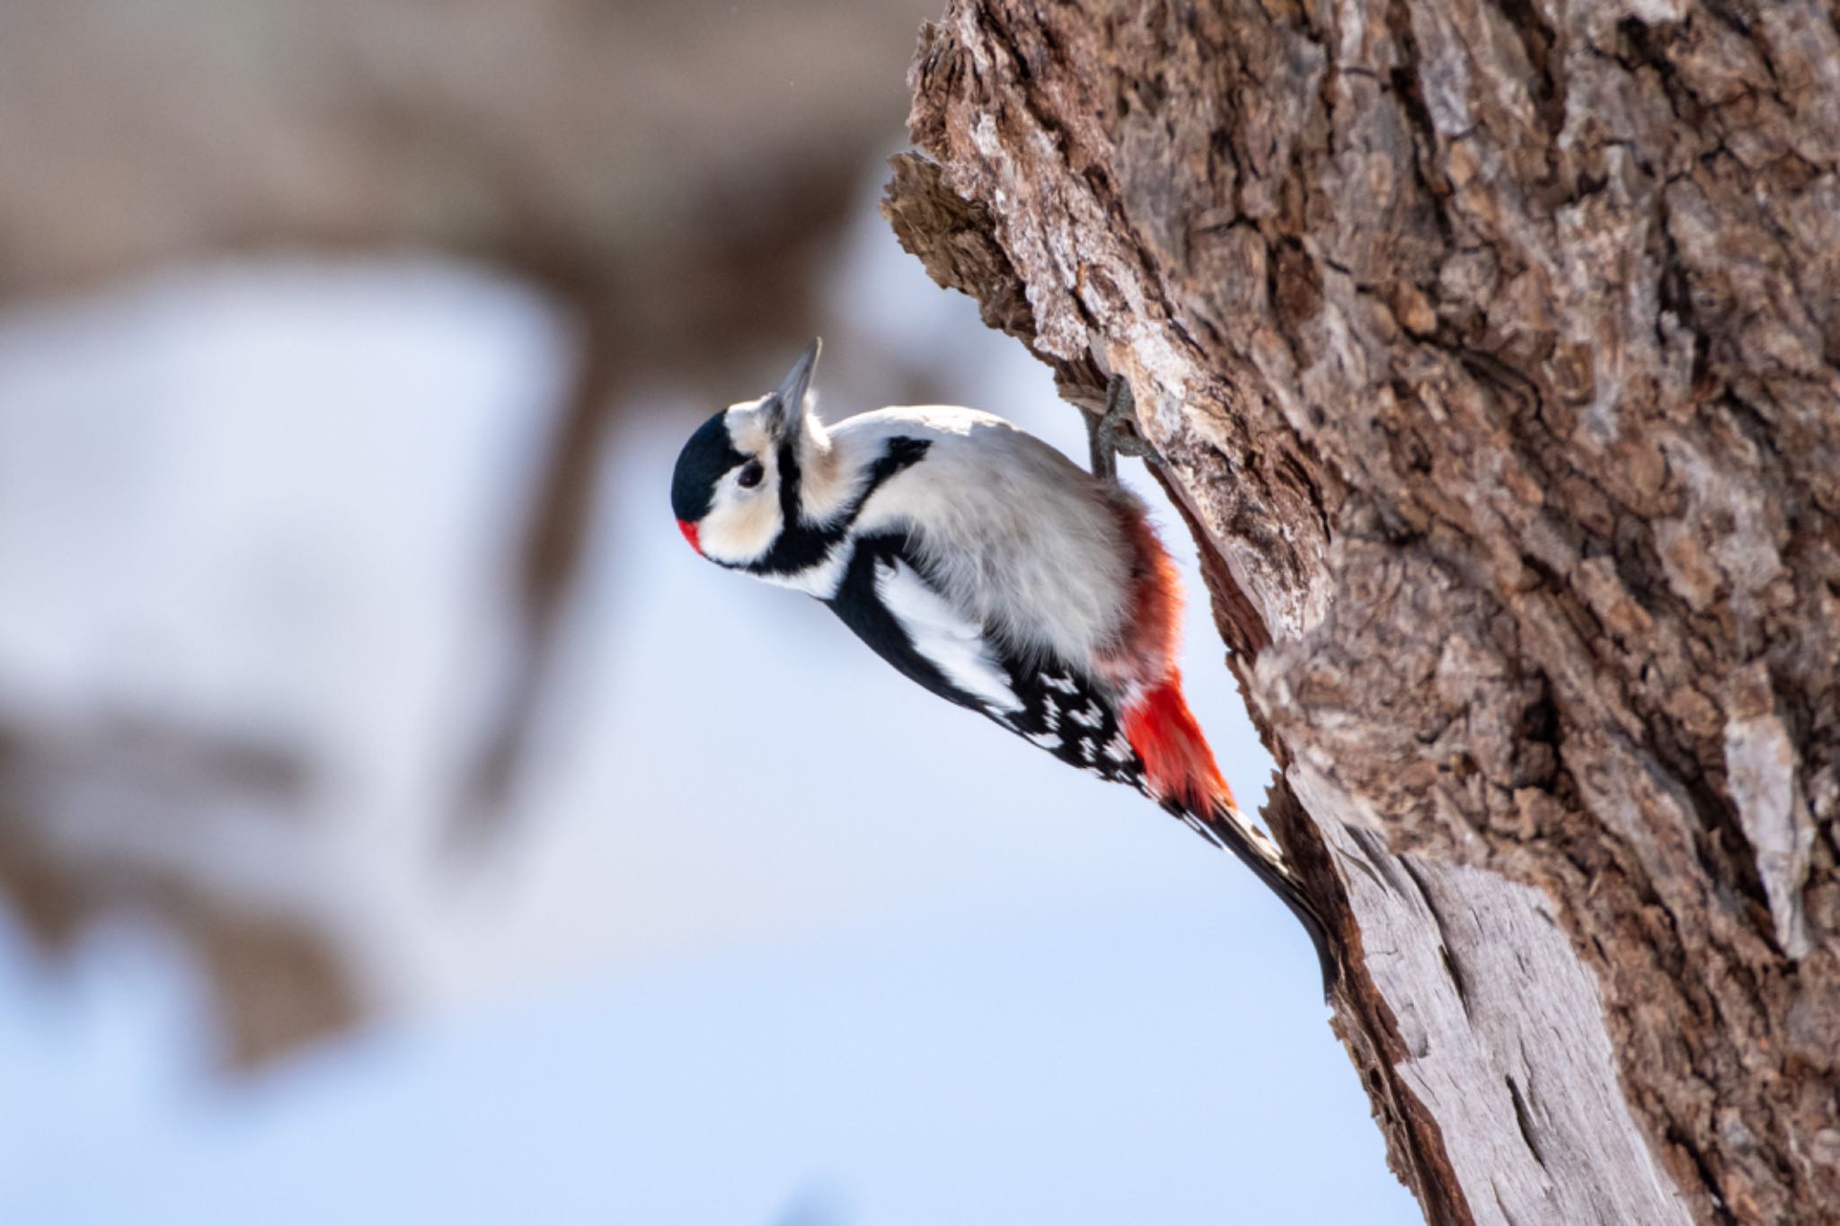
[(1432, 1222), (1840, 1220), (1829, 4), (951, 0), (887, 215), (1124, 371)]

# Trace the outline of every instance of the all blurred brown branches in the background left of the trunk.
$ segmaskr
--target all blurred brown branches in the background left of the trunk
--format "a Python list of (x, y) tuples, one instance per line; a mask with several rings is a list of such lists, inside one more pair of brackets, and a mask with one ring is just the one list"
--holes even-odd
[[(690, 373), (725, 403), (747, 386), (736, 338), (784, 349), (815, 331), (813, 261), (898, 129), (891, 85), (931, 9), (22, 0), (0, 39), (0, 300), (258, 252), (427, 250), (500, 268), (572, 320), (572, 382), (510, 562), (506, 680), (454, 776), (454, 836), (477, 842), (510, 812), (618, 393)], [(118, 803), (177, 831), (206, 796), (258, 776), (298, 792), (316, 770), (208, 735), (156, 717), (74, 744), (20, 730), (0, 880), (46, 941), (129, 899), (180, 919), (232, 1059), (256, 1061), (359, 1015), (337, 950), (226, 910), (184, 864), (116, 849), (101, 864), (31, 820), (59, 781), (140, 770), (118, 778)]]

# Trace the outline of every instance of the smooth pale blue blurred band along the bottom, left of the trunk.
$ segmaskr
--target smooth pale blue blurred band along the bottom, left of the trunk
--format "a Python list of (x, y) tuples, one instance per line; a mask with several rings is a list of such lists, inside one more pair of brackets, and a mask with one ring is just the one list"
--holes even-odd
[(228, 1086), (169, 954), (116, 932), (59, 987), (11, 947), (0, 1217), (1419, 1220), (1259, 910), (1185, 890), (692, 958)]

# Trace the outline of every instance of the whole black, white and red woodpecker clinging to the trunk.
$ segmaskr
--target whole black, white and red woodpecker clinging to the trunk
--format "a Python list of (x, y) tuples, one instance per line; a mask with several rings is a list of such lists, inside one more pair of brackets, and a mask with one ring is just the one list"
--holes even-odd
[[(1231, 849), (1308, 930), (1327, 994), (1325, 925), (1240, 814), (1183, 698), (1181, 581), (1144, 504), (970, 408), (883, 408), (824, 426), (819, 347), (778, 390), (718, 412), (684, 443), (672, 511), (690, 548), (817, 597), (935, 695), (1128, 783)], [(1110, 408), (1095, 467), (1102, 450), (1110, 461)]]

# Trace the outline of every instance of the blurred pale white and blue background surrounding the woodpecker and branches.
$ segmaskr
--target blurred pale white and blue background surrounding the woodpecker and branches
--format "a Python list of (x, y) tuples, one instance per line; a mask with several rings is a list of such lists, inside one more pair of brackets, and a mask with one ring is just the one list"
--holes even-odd
[[(828, 415), (924, 371), (1084, 452), (868, 208), (828, 296)], [(0, 320), (0, 717), (309, 779), (180, 829), (52, 794), (53, 836), (315, 917), (392, 1018), (221, 1086), (158, 932), (55, 972), (0, 939), (0, 1220), (1417, 1220), (1282, 906), (684, 550), (670, 465), (718, 406), (677, 390), (607, 456), (515, 840), (440, 855), (565, 355), (523, 289), (423, 261)], [(1200, 596), (1190, 697), (1257, 803), (1218, 654)]]

